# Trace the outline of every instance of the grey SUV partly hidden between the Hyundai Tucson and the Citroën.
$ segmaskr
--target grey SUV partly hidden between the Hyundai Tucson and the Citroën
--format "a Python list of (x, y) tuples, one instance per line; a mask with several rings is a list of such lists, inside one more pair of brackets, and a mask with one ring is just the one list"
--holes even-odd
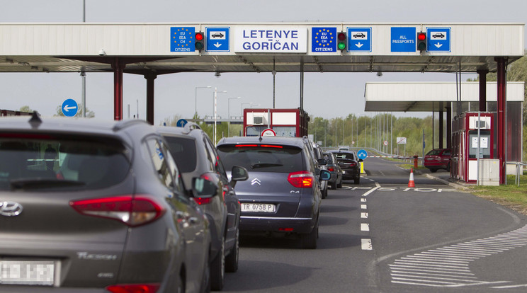
[(183, 182), (191, 183), (195, 177), (206, 178), (215, 183), (217, 192), (222, 194), (196, 200), (210, 219), (210, 280), (213, 290), (221, 290), (225, 271), (236, 272), (238, 269), (240, 205), (234, 185), (237, 181), (248, 178), (247, 171), (242, 167), (232, 166), (237, 176), (229, 182), (215, 146), (207, 133), (195, 123), (187, 123), (185, 127), (157, 129), (169, 143), (171, 154), (181, 170)]

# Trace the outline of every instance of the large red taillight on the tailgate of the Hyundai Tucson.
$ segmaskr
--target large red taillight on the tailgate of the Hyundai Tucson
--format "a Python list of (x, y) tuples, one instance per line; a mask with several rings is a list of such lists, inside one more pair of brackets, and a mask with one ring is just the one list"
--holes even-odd
[(154, 222), (165, 210), (145, 195), (123, 195), (69, 202), (80, 214), (115, 219), (128, 226), (140, 226)]

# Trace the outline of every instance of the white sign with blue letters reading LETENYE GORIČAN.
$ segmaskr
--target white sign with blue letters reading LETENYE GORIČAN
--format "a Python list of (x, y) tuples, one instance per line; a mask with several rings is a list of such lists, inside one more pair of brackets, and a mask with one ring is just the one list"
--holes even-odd
[(237, 28), (234, 52), (307, 53), (307, 28), (281, 25)]

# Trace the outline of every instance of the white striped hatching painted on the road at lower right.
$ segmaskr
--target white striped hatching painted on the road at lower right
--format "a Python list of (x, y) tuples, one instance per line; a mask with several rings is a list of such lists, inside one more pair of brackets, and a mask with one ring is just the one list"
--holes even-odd
[[(474, 277), (470, 264), (489, 255), (496, 255), (511, 249), (527, 246), (527, 225), (505, 234), (467, 241), (464, 243), (429, 249), (394, 260), (389, 264), (392, 283), (429, 286), (465, 287), (475, 285), (495, 285), (510, 281), (487, 282), (469, 280)], [(527, 287), (527, 285), (506, 285), (492, 287), (506, 289)]]

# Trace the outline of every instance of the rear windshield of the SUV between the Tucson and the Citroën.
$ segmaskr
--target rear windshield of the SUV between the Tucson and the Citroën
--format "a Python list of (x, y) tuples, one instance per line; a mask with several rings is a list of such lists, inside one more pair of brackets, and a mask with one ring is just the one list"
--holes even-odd
[(188, 173), (196, 169), (196, 141), (192, 138), (165, 137), (170, 154), (178, 164), (179, 171)]

